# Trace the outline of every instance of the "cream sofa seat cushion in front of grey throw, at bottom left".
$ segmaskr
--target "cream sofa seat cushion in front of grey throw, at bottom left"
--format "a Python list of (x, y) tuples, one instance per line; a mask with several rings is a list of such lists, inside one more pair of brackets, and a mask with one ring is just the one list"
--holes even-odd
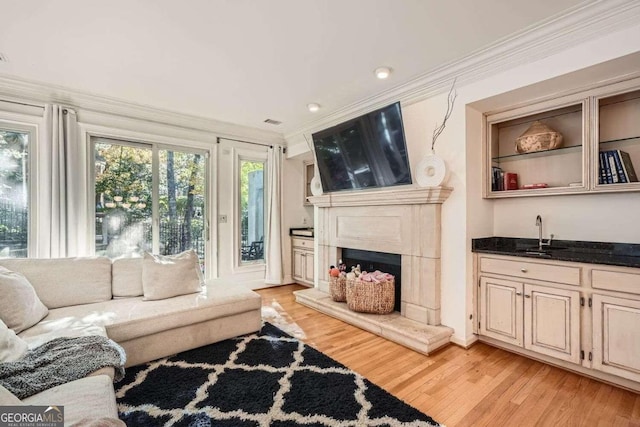
[(64, 423), (71, 425), (86, 417), (118, 418), (113, 382), (106, 375), (71, 381), (22, 400), (27, 405), (62, 405)]

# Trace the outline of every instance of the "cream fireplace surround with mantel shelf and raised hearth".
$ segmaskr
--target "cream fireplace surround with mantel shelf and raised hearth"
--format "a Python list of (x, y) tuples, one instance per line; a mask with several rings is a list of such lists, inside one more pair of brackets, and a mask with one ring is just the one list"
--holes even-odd
[[(442, 203), (453, 191), (450, 187), (394, 187), (382, 190), (350, 191), (310, 197), (316, 209), (315, 290), (298, 291), (299, 302), (358, 326), (362, 319), (373, 322), (379, 331), (397, 325), (411, 325), (407, 336), (429, 330), (429, 340), (443, 345), (451, 329), (440, 326), (440, 228)], [(361, 249), (401, 255), (401, 311), (395, 316), (362, 316), (330, 300), (328, 267), (342, 257), (342, 249)], [(339, 316), (338, 316), (339, 313)], [(396, 319), (396, 317), (398, 319)], [(387, 320), (393, 318), (393, 322)], [(381, 326), (384, 325), (384, 326)], [(395, 325), (395, 326), (394, 326)], [(384, 334), (382, 334), (384, 335)], [(425, 334), (423, 334), (425, 335)], [(435, 337), (435, 338), (434, 338)], [(406, 337), (405, 337), (406, 338)], [(403, 338), (403, 344), (407, 344)], [(427, 352), (431, 344), (407, 344)]]

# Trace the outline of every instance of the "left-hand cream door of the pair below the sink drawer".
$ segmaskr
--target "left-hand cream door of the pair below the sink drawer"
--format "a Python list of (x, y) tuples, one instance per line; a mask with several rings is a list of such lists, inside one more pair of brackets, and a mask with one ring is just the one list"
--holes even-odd
[(480, 279), (480, 334), (522, 347), (522, 283)]

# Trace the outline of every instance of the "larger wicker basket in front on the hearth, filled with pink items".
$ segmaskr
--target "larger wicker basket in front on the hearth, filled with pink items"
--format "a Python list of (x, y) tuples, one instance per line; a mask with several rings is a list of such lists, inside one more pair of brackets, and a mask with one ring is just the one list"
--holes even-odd
[(347, 307), (360, 313), (389, 314), (395, 304), (395, 281), (380, 283), (347, 281)]

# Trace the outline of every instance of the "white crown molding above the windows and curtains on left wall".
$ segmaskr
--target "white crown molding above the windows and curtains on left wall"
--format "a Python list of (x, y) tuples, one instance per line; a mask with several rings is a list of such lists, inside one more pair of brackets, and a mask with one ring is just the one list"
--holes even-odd
[(90, 94), (64, 86), (1, 74), (0, 97), (3, 101), (31, 107), (44, 107), (47, 103), (76, 107), (79, 109), (79, 120), (82, 118), (82, 110), (85, 110), (128, 119), (137, 119), (149, 123), (170, 125), (186, 130), (211, 132), (221, 138), (240, 138), (250, 142), (270, 144), (284, 143), (283, 136), (273, 131), (265, 131), (205, 117), (164, 110), (102, 95)]

